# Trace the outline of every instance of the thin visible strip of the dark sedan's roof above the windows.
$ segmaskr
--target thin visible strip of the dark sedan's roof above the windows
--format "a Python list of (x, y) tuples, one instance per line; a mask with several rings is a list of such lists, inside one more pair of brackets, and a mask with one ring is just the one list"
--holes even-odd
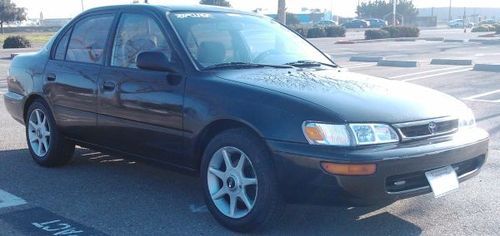
[(201, 5), (201, 4), (123, 4), (123, 5), (112, 5), (112, 6), (103, 6), (96, 7), (87, 10), (86, 12), (94, 12), (94, 11), (102, 11), (102, 10), (124, 10), (124, 9), (144, 9), (144, 10), (159, 10), (164, 12), (176, 12), (176, 11), (199, 11), (199, 12), (225, 12), (225, 13), (236, 13), (236, 14), (247, 14), (247, 15), (257, 15), (255, 13), (240, 11), (230, 7), (217, 7), (217, 6), (209, 6), (209, 5)]

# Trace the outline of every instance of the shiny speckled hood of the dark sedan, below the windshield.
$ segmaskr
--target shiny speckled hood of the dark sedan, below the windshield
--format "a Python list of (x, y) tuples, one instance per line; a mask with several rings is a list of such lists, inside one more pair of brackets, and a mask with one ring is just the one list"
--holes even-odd
[(459, 116), (467, 109), (461, 101), (423, 86), (345, 69), (231, 70), (217, 76), (315, 103), (346, 122), (399, 123)]

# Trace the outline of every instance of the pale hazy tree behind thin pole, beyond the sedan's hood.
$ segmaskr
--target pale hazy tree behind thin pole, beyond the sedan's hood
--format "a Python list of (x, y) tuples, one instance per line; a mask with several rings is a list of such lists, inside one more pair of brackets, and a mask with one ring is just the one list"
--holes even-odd
[[(392, 15), (392, 3), (394, 0), (375, 0), (364, 2), (358, 6), (356, 13), (359, 18), (380, 18)], [(418, 15), (418, 9), (413, 5), (412, 0), (398, 0), (396, 12), (402, 16), (405, 22), (414, 22)], [(398, 16), (399, 17), (399, 16)], [(402, 19), (400, 19), (402, 20)]]

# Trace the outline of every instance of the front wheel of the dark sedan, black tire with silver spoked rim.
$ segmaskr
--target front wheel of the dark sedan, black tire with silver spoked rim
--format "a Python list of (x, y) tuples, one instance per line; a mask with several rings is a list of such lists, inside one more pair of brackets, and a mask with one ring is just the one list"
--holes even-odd
[[(232, 161), (234, 169), (230, 168), (230, 171), (225, 167), (227, 162), (223, 150)], [(242, 157), (246, 157), (243, 168), (240, 168), (243, 169), (242, 176), (231, 174), (231, 171), (241, 166)], [(201, 164), (203, 195), (209, 211), (221, 225), (236, 232), (250, 232), (269, 226), (281, 216), (285, 204), (279, 194), (271, 158), (262, 140), (246, 129), (224, 131), (207, 145)], [(225, 170), (214, 172), (218, 166)], [(223, 177), (217, 177), (214, 173)], [(234, 179), (231, 181), (230, 177)], [(249, 184), (253, 182), (255, 185)], [(213, 200), (213, 196), (219, 197), (216, 194), (218, 188), (220, 191), (226, 188), (224, 191), (227, 193)], [(243, 193), (247, 198), (246, 203), (250, 203), (251, 207), (243, 201)], [(238, 195), (236, 210), (231, 214), (231, 196), (234, 195)]]

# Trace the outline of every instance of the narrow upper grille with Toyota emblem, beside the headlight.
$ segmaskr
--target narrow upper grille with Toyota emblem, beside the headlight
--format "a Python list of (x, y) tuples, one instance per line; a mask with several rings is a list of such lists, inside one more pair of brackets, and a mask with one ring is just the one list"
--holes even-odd
[(394, 125), (404, 140), (433, 137), (458, 130), (458, 119), (440, 118)]

